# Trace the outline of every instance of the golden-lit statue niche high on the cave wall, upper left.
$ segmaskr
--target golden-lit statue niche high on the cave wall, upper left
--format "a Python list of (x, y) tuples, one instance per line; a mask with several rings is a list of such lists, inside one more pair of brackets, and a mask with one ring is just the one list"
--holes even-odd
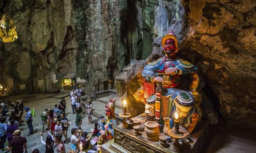
[(3, 42), (13, 42), (18, 38), (13, 20), (5, 14), (0, 20), (0, 29), (0, 37)]

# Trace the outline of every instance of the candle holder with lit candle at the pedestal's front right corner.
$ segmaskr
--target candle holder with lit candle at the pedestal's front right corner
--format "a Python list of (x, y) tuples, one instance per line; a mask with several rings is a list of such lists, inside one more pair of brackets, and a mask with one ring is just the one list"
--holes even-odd
[(172, 128), (168, 130), (168, 135), (174, 138), (174, 142), (172, 143), (172, 150), (175, 152), (181, 152), (182, 147), (179, 143), (179, 139), (188, 137), (189, 133), (183, 130), (178, 130), (178, 133), (176, 132), (176, 129)]

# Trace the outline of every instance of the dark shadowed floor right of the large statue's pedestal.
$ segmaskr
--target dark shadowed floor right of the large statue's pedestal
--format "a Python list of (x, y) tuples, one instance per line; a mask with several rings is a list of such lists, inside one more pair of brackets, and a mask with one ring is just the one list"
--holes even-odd
[[(209, 126), (206, 153), (255, 153), (256, 131), (216, 124)], [(208, 146), (208, 147), (207, 147)]]

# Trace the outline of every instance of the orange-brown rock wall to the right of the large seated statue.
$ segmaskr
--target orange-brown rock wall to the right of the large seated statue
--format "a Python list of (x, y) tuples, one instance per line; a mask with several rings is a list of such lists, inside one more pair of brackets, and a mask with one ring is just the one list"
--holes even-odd
[(255, 129), (255, 1), (200, 0), (182, 5), (187, 33), (181, 54), (198, 65), (203, 91), (220, 118)]

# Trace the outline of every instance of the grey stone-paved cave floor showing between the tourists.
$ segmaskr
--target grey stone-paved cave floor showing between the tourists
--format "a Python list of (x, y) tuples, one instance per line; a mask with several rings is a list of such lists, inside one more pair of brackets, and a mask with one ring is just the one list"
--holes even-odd
[[(68, 98), (66, 98), (67, 100)], [(21, 130), (21, 136), (25, 136), (27, 138), (27, 145), (28, 145), (28, 153), (31, 153), (33, 149), (37, 148), (40, 150), (41, 153), (44, 153), (45, 147), (41, 143), (41, 137), (40, 137), (40, 132), (42, 131), (42, 126), (41, 126), (41, 113), (44, 111), (45, 108), (48, 109), (54, 109), (55, 104), (59, 104), (60, 99), (52, 99), (51, 97), (47, 98), (41, 98), (41, 99), (36, 99), (36, 100), (29, 100), (24, 102), (25, 107), (29, 107), (31, 110), (34, 108), (36, 117), (33, 117), (33, 128), (34, 128), (34, 135), (28, 135), (28, 126), (26, 125), (26, 122), (24, 123), (26, 126), (20, 127)], [(24, 115), (25, 115), (24, 111)], [(73, 123), (75, 122), (76, 119), (76, 114), (72, 114), (72, 109), (71, 109), (71, 104), (70, 100), (67, 100), (67, 108), (66, 108), (66, 114), (67, 118), (72, 121), (71, 125), (68, 128), (68, 139), (71, 137), (71, 129), (73, 127)], [(94, 128), (94, 122), (98, 121), (98, 118), (95, 116), (92, 116), (92, 124), (86, 124), (88, 122), (87, 115), (82, 115), (82, 126), (81, 128), (85, 132), (89, 132), (92, 128)], [(45, 141), (47, 134), (44, 134), (43, 140)], [(64, 136), (62, 137), (62, 140), (65, 140)], [(69, 150), (71, 146), (71, 143), (65, 144), (66, 151)], [(56, 151), (56, 148), (55, 148)], [(2, 151), (0, 151), (2, 152)]]

